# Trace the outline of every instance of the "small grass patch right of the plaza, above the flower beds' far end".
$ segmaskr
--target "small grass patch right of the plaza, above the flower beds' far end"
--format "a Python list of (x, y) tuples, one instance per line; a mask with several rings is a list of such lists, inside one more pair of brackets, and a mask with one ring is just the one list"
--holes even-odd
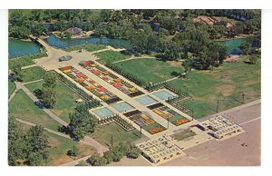
[(121, 54), (120, 52), (113, 52), (113, 51), (105, 51), (105, 52), (97, 53), (95, 55), (101, 58), (99, 62), (101, 62), (102, 64), (113, 63), (113, 62), (121, 61), (131, 57), (131, 55)]

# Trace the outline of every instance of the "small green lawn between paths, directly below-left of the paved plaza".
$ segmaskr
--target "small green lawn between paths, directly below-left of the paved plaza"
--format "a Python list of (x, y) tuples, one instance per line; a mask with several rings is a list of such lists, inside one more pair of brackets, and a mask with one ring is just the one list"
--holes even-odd
[(46, 72), (44, 71), (43, 68), (39, 66), (34, 66), (31, 68), (22, 70), (22, 78), (24, 83), (32, 82), (35, 80), (43, 79), (45, 73)]

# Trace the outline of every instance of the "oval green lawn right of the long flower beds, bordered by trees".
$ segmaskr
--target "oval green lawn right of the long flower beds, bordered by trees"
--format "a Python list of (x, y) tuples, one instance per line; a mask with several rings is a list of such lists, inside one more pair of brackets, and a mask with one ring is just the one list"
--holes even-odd
[(124, 73), (131, 73), (146, 83), (159, 83), (175, 77), (175, 73), (183, 73), (180, 63), (164, 62), (153, 58), (141, 58), (117, 63)]

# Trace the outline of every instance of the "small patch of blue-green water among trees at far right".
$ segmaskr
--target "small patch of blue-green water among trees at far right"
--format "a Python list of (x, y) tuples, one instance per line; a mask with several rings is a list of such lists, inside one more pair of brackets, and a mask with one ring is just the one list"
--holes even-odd
[(241, 54), (239, 46), (246, 40), (246, 38), (235, 38), (225, 41), (219, 41), (219, 44), (223, 44), (228, 47), (228, 54)]

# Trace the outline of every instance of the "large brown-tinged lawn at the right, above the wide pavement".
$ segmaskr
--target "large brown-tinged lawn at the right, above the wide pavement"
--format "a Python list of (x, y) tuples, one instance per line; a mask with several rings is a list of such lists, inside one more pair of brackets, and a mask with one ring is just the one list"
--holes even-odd
[[(171, 83), (173, 87), (192, 95), (193, 99), (184, 104), (194, 110), (194, 117), (219, 112), (241, 105), (242, 93), (245, 103), (260, 98), (260, 61), (257, 64), (245, 64), (243, 58), (237, 63), (224, 63), (213, 72), (194, 71), (188, 79), (178, 79)], [(191, 112), (189, 112), (191, 115)]]

